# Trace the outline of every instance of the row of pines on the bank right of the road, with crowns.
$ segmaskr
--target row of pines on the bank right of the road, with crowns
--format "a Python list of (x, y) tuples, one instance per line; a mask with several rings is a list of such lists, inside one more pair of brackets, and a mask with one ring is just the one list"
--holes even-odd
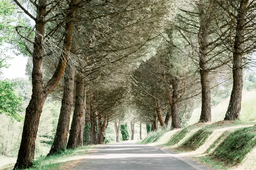
[(141, 120), (156, 130), (157, 121), (166, 128), (172, 117), (172, 128), (181, 128), (201, 94), (199, 122), (211, 122), (211, 90), (229, 81), (230, 72), (233, 89), (224, 120), (239, 119), (243, 68), (255, 64), (254, 13), (255, 2), (244, 0), (200, 0), (180, 8), (161, 34), (155, 56), (133, 72)]

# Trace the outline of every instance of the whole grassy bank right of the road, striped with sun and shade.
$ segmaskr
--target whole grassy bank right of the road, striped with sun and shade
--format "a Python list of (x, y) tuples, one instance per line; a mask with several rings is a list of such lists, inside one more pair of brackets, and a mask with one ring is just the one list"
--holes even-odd
[[(148, 134), (140, 144), (156, 145), (214, 169), (256, 169), (255, 122), (196, 123)], [(138, 144), (139, 144), (138, 143)]]

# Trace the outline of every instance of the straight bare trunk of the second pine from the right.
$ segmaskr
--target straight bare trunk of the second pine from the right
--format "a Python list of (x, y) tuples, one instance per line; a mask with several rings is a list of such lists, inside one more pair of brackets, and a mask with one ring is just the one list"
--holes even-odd
[(199, 122), (211, 122), (211, 91), (208, 72), (208, 44), (209, 44), (209, 12), (205, 12), (203, 0), (198, 3), (200, 30), (199, 43), (199, 68), (202, 88), (202, 110)]

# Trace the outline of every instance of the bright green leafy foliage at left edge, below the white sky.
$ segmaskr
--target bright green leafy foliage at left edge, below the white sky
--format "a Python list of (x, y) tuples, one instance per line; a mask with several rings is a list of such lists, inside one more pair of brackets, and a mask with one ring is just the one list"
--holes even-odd
[(16, 85), (9, 80), (0, 81), (0, 114), (5, 113), (12, 121), (20, 121), (19, 112), (23, 111), (22, 98), (15, 94)]

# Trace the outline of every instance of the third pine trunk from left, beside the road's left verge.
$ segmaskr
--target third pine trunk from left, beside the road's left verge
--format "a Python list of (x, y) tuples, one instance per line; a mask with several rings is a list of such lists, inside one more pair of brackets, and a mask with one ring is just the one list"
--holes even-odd
[(67, 148), (74, 149), (83, 145), (84, 133), (84, 76), (83, 70), (76, 76), (76, 102), (71, 123)]

